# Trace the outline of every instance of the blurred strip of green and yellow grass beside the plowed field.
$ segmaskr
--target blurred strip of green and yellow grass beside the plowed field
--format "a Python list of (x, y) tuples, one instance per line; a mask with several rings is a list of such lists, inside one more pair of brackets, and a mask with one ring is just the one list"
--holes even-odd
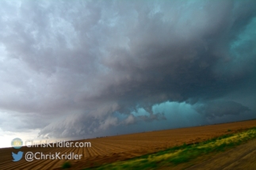
[[(228, 130), (231, 131), (231, 130)], [(128, 161), (119, 161), (112, 164), (105, 164), (99, 167), (86, 168), (97, 170), (119, 170), (119, 169), (158, 169), (162, 167), (174, 167), (178, 164), (193, 161), (197, 157), (207, 155), (209, 153), (218, 153), (231, 149), (236, 145), (241, 145), (250, 139), (256, 138), (256, 127), (249, 130), (235, 133), (225, 134), (218, 138), (210, 139), (193, 145), (175, 146), (170, 149), (160, 151), (158, 153), (148, 154), (141, 157), (135, 157)]]

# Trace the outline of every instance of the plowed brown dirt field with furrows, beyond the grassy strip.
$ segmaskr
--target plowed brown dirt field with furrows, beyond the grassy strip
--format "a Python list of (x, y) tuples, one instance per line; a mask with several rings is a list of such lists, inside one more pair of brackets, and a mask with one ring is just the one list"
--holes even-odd
[[(28, 148), (0, 149), (0, 170), (4, 169), (60, 169), (64, 160), (25, 161), (26, 152), (42, 152), (44, 154), (61, 152), (83, 154), (81, 160), (71, 161), (71, 169), (82, 169), (94, 165), (124, 161), (147, 153), (155, 153), (174, 145), (192, 144), (215, 138), (222, 134), (230, 134), (239, 130), (256, 127), (256, 120), (237, 123), (224, 123), (204, 127), (189, 127), (174, 130), (159, 130), (138, 134), (124, 134), (105, 138), (80, 140), (77, 142), (91, 142), (91, 148)], [(231, 131), (228, 132), (227, 130)], [(21, 161), (13, 162), (11, 152), (23, 151)], [(254, 152), (255, 153), (255, 152)]]

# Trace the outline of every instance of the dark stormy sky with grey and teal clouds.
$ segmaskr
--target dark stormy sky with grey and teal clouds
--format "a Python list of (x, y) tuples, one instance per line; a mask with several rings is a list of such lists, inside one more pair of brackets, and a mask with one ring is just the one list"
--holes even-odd
[(256, 118), (256, 1), (0, 1), (0, 138)]

